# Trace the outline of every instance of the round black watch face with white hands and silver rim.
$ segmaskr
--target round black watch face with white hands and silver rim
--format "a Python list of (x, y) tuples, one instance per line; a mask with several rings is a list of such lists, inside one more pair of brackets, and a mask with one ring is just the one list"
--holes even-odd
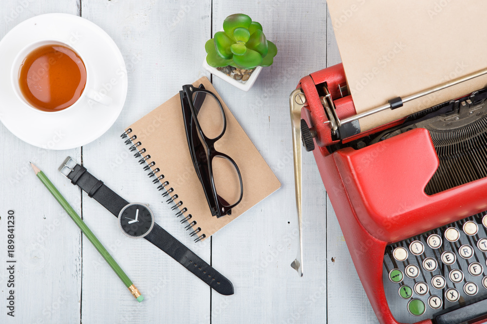
[(131, 238), (143, 238), (154, 226), (154, 216), (146, 205), (129, 204), (118, 215), (122, 232)]

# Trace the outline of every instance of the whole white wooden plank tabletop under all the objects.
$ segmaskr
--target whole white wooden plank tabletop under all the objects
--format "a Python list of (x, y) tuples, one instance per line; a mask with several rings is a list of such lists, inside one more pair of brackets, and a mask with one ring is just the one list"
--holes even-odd
[[(290, 267), (299, 241), (288, 98), (301, 77), (340, 62), (325, 0), (1, 0), (0, 37), (52, 12), (84, 17), (110, 34), (128, 67), (129, 92), (112, 128), (77, 149), (38, 149), (0, 125), (0, 323), (376, 323), (311, 153), (303, 157), (304, 277)], [(210, 77), (202, 68), (204, 44), (225, 17), (240, 12), (262, 23), (278, 55), (248, 93), (216, 77), (213, 84), (282, 188), (195, 244), (119, 136), (181, 85)], [(122, 235), (105, 208), (57, 172), (67, 155), (125, 198), (149, 203), (156, 222), (228, 277), (235, 294), (211, 291), (155, 246)], [(83, 216), (145, 295), (143, 303), (81, 236), (29, 161)], [(16, 213), (14, 318), (6, 314), (9, 209)]]

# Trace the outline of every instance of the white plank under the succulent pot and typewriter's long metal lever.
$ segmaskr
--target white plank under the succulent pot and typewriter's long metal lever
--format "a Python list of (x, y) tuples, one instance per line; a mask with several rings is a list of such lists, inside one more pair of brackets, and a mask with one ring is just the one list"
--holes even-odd
[[(213, 32), (234, 13), (259, 21), (279, 52), (245, 93), (213, 84), (282, 188), (212, 238), (213, 265), (225, 270), (234, 296), (212, 294), (212, 323), (326, 322), (325, 193), (312, 154), (303, 156), (304, 277), (290, 267), (299, 249), (289, 94), (326, 60), (326, 4), (213, 1)], [(207, 34), (207, 38), (209, 38)], [(202, 46), (202, 45), (200, 45)]]

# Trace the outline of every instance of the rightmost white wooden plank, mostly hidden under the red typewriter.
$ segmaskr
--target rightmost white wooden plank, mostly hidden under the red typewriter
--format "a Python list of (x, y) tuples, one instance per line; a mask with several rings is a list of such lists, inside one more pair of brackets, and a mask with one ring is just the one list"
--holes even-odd
[[(327, 67), (341, 62), (331, 18), (327, 23)], [(329, 323), (377, 323), (345, 243), (337, 216), (327, 197), (327, 276)], [(344, 305), (349, 305), (346, 309)]]

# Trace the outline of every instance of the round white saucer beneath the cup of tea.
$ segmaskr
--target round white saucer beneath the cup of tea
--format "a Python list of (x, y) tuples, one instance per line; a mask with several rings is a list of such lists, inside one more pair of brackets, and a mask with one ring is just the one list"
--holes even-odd
[[(100, 103), (76, 104), (57, 114), (43, 114), (17, 98), (10, 70), (17, 53), (29, 43), (54, 38), (74, 45), (94, 71), (94, 89), (112, 98)], [(37, 147), (67, 150), (102, 136), (122, 111), (127, 96), (127, 69), (112, 38), (93, 22), (68, 14), (46, 14), (21, 22), (0, 41), (0, 120), (15, 136)], [(113, 82), (113, 79), (115, 82)]]

